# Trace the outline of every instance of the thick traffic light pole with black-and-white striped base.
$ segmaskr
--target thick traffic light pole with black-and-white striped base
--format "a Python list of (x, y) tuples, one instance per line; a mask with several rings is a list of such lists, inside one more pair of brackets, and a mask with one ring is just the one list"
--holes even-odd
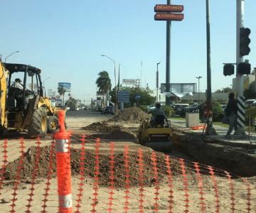
[(238, 117), (237, 129), (235, 134), (245, 135), (245, 97), (243, 97), (243, 77), (238, 73), (238, 65), (243, 62), (243, 57), (240, 56), (240, 28), (243, 27), (245, 1), (237, 0), (237, 17), (236, 17), (236, 92), (238, 100)]

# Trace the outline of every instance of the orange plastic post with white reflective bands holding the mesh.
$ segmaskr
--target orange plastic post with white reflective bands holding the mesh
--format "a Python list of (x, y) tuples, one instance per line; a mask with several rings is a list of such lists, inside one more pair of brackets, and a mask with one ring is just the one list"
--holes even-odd
[(70, 132), (65, 130), (65, 113), (58, 111), (60, 130), (55, 133), (59, 212), (73, 212), (70, 169)]

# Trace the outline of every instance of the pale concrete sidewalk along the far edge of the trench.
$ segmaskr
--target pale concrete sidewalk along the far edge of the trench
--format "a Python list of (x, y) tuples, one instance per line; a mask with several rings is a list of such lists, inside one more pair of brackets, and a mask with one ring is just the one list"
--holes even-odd
[[(171, 120), (171, 125), (172, 126), (176, 126), (180, 129), (183, 129), (185, 131), (191, 131), (191, 132), (195, 132), (195, 133), (201, 133), (203, 134), (203, 129), (200, 130), (193, 130), (191, 128), (186, 127), (186, 121), (185, 120), (177, 120), (177, 119), (170, 119)], [(203, 125), (203, 123), (201, 123), (200, 125)], [(235, 143), (237, 146), (249, 146), (250, 144), (252, 144), (251, 148), (256, 148), (256, 133), (250, 133), (250, 137), (249, 137), (249, 133), (246, 131), (246, 135), (245, 136), (235, 136), (233, 135), (234, 131), (231, 133), (231, 138), (225, 138), (225, 134), (228, 131), (227, 127), (223, 127), (223, 126), (217, 126), (217, 125), (213, 125), (215, 131), (217, 132), (216, 136), (207, 136), (207, 138), (215, 138), (216, 141), (222, 142), (222, 143)], [(254, 151), (253, 151), (254, 152)], [(255, 149), (255, 153), (256, 153), (256, 149)]]

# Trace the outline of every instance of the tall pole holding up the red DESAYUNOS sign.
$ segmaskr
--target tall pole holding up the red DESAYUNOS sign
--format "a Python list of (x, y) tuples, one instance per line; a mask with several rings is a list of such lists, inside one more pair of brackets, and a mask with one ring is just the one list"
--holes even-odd
[[(171, 0), (167, 0), (167, 5)], [(171, 62), (171, 21), (166, 21), (166, 92), (170, 91), (170, 62)], [(166, 105), (171, 104), (171, 96), (166, 95)]]

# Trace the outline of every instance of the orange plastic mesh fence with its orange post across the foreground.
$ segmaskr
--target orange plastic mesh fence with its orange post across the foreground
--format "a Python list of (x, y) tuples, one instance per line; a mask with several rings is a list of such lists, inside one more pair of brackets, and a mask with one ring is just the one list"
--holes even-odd
[(1, 212), (255, 212), (255, 178), (62, 131), (0, 141)]

